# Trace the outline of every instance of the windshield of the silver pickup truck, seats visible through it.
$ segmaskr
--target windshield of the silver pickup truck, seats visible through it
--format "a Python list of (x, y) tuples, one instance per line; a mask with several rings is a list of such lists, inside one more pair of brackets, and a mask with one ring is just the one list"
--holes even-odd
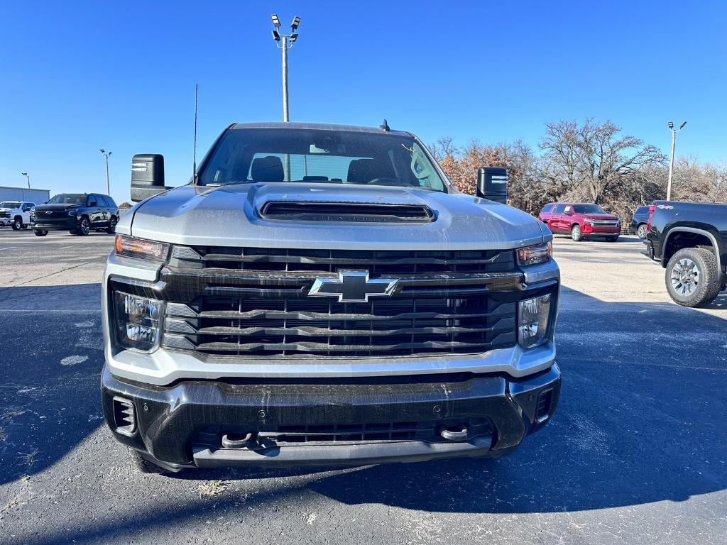
[(446, 191), (410, 136), (316, 129), (231, 129), (199, 176), (201, 185), (317, 182)]

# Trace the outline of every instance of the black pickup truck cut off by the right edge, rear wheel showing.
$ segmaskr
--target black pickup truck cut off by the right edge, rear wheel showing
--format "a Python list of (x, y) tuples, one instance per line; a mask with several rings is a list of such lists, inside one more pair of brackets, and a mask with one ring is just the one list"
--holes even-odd
[(727, 204), (654, 202), (646, 247), (675, 303), (704, 307), (727, 284)]

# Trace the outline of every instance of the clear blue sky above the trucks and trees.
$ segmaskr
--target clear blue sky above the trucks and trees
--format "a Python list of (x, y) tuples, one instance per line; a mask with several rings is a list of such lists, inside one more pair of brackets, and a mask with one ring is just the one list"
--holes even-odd
[(169, 185), (232, 121), (281, 119), (270, 12), (300, 15), (292, 121), (537, 145), (547, 121), (611, 119), (678, 155), (726, 161), (727, 3), (113, 1), (0, 7), (0, 185), (129, 198), (134, 153)]

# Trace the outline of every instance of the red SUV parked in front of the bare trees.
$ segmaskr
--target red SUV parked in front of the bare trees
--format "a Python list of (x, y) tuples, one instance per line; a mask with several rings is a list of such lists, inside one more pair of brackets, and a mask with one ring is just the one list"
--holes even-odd
[(568, 233), (576, 242), (591, 237), (616, 242), (621, 233), (621, 218), (597, 204), (547, 203), (538, 217), (553, 233)]

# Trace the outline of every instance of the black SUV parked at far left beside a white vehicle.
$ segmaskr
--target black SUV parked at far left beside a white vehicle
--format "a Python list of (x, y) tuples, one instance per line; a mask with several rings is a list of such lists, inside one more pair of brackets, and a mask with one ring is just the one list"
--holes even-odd
[(36, 206), (31, 217), (33, 232), (39, 237), (57, 230), (68, 230), (72, 235), (88, 235), (91, 230), (116, 233), (119, 207), (108, 195), (60, 193)]

